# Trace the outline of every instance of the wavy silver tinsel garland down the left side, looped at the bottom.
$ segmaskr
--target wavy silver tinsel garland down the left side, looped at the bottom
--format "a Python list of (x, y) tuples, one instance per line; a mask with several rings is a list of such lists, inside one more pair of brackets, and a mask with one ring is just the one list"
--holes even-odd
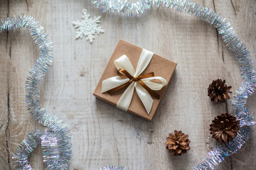
[(40, 52), (36, 64), (33, 65), (26, 81), (26, 104), (32, 117), (38, 121), (45, 131), (32, 131), (18, 147), (15, 159), (16, 169), (32, 169), (28, 156), (41, 143), (43, 162), (46, 169), (67, 169), (71, 156), (71, 138), (66, 125), (56, 115), (50, 115), (41, 107), (39, 85), (53, 60), (52, 42), (44, 33), (43, 27), (31, 16), (0, 19), (0, 33), (4, 30), (28, 28), (29, 33), (38, 45)]

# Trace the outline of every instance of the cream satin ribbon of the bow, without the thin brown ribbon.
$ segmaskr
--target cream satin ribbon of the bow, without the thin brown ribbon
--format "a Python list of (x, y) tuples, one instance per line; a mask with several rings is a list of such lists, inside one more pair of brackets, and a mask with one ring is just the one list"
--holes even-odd
[[(122, 55), (117, 60), (114, 60), (114, 65), (117, 68), (117, 70), (125, 69), (133, 77), (138, 77), (140, 74), (142, 74), (144, 69), (146, 69), (153, 55), (154, 55), (153, 52), (143, 49), (139, 57), (139, 62), (137, 64), (136, 72), (134, 72), (132, 63), (130, 62), (129, 58), (126, 55)], [(153, 79), (160, 80), (161, 84), (152, 82), (151, 80)], [(154, 91), (159, 91), (166, 85), (166, 79), (164, 79), (163, 77), (149, 77), (141, 80), (144, 82), (144, 84), (146, 84), (146, 86), (148, 86), (151, 90), (154, 90)], [(120, 76), (105, 79), (102, 81), (102, 93), (109, 91), (110, 89), (114, 89), (117, 86), (121, 86), (122, 84), (125, 84), (128, 81), (130, 81), (130, 79), (128, 78), (124, 79), (123, 77), (120, 77)], [(146, 108), (146, 113), (148, 113), (149, 115), (152, 108), (152, 104), (153, 104), (153, 98), (151, 98), (149, 92), (146, 91), (146, 89), (144, 89), (144, 87), (141, 84), (139, 84), (137, 81), (132, 81), (132, 83), (129, 84), (127, 89), (119, 98), (119, 101), (117, 102), (117, 108), (120, 108), (123, 111), (128, 110), (129, 105), (132, 101), (132, 96), (134, 94), (134, 88), (136, 89), (140, 100), (142, 101), (144, 107)]]

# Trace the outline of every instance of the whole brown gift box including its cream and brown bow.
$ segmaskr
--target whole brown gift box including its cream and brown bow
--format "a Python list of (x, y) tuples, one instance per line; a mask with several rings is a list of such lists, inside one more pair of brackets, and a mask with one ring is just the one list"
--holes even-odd
[(119, 40), (93, 95), (152, 120), (175, 68), (175, 62)]

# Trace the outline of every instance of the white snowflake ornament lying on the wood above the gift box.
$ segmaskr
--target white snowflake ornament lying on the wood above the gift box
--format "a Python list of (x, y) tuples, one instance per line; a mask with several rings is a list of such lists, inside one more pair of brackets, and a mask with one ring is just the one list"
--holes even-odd
[(100, 33), (104, 33), (104, 30), (102, 30), (102, 27), (98, 27), (97, 23), (100, 23), (100, 18), (101, 16), (95, 16), (93, 19), (90, 18), (90, 14), (87, 14), (87, 10), (83, 9), (82, 10), (82, 20), (81, 21), (74, 21), (73, 25), (75, 26), (75, 28), (78, 28), (78, 32), (75, 33), (75, 38), (81, 38), (82, 39), (82, 35), (84, 35), (85, 37), (87, 37), (87, 40), (90, 41), (90, 43), (93, 42), (93, 40), (95, 39), (95, 33), (97, 33), (98, 35)]

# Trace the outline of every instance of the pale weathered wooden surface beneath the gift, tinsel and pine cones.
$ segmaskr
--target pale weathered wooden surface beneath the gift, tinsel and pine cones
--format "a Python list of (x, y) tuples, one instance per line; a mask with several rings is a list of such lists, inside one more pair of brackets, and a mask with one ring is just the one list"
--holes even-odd
[[(254, 0), (198, 0), (228, 18), (255, 59), (256, 3)], [(82, 8), (102, 16), (105, 33), (91, 45), (75, 40), (73, 21)], [(123, 165), (132, 169), (192, 169), (216, 145), (209, 135), (211, 120), (230, 112), (228, 103), (215, 105), (207, 96), (208, 84), (223, 78), (233, 86), (241, 83), (238, 63), (208, 23), (185, 13), (154, 9), (141, 17), (125, 17), (98, 11), (88, 0), (0, 0), (0, 17), (28, 13), (40, 21), (54, 43), (54, 62), (41, 84), (41, 101), (69, 126), (73, 156), (69, 169), (98, 169)], [(177, 62), (164, 100), (151, 122), (137, 118), (92, 96), (97, 81), (122, 38)], [(26, 29), (0, 35), (0, 169), (14, 169), (12, 154), (33, 129), (41, 128), (26, 111), (24, 83), (38, 57)], [(256, 95), (248, 106), (255, 115)], [(171, 157), (164, 143), (169, 132), (182, 130), (190, 136), (191, 150)], [(255, 130), (255, 127), (253, 127)], [(256, 135), (237, 154), (217, 169), (255, 169)], [(44, 169), (40, 148), (30, 159)]]

